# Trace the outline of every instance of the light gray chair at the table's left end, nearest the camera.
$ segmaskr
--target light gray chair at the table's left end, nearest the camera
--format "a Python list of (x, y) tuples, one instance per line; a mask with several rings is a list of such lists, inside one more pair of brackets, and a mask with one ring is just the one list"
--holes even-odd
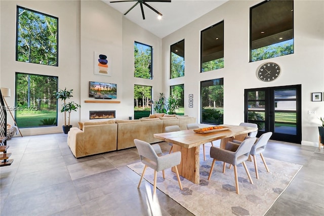
[(172, 154), (162, 155), (161, 148), (158, 144), (151, 145), (147, 142), (141, 140), (134, 140), (135, 146), (138, 150), (142, 163), (145, 164), (140, 182), (137, 186), (141, 186), (141, 182), (146, 170), (146, 167), (149, 166), (154, 169), (154, 184), (153, 184), (153, 195), (156, 194), (156, 176), (157, 172), (163, 172), (163, 178), (165, 178), (164, 170), (167, 168), (175, 167), (179, 187), (182, 190), (182, 185), (180, 182), (179, 172), (177, 165), (181, 162), (181, 152), (174, 152)]

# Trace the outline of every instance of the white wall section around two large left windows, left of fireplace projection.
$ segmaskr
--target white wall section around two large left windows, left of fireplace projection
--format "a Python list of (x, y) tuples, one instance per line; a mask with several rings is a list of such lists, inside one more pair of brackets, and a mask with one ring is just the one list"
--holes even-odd
[[(73, 89), (73, 100), (79, 103), (79, 2), (78, 1), (1, 1), (1, 66), (0, 86), (11, 89), (8, 105), (15, 105), (15, 72), (58, 76), (59, 88)], [(59, 66), (47, 66), (15, 61), (16, 50), (16, 10), (17, 5), (59, 18)], [(61, 106), (61, 102), (59, 104)], [(13, 113), (14, 114), (14, 113)], [(79, 114), (72, 113), (71, 122), (78, 120)], [(8, 113), (8, 123), (14, 124)], [(56, 127), (20, 129), (24, 136), (34, 134), (61, 133), (64, 124), (59, 113)]]

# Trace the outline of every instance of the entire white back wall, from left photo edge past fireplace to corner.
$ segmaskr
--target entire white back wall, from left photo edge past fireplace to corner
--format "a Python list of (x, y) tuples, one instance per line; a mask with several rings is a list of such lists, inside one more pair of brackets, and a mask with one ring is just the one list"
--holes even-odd
[[(15, 61), (16, 6), (26, 7), (59, 18), (59, 66)], [(134, 118), (134, 84), (150, 85), (161, 91), (161, 39), (130, 22), (102, 1), (0, 1), (1, 71), (0, 86), (15, 92), (15, 72), (59, 77), (59, 88), (73, 89), (72, 100), (81, 105), (71, 113), (71, 124), (89, 121), (90, 110), (116, 110), (116, 118)], [(153, 47), (153, 80), (134, 78), (134, 41)], [(111, 76), (94, 74), (94, 52), (111, 58)], [(89, 98), (89, 81), (117, 84), (119, 104), (85, 103)], [(155, 94), (155, 95), (156, 95)], [(14, 107), (14, 97), (7, 99)], [(59, 110), (61, 102), (59, 103)], [(102, 119), (106, 120), (106, 119)], [(11, 117), (8, 122), (13, 124)], [(61, 133), (64, 124), (59, 112), (58, 126), (20, 129), (24, 136)]]

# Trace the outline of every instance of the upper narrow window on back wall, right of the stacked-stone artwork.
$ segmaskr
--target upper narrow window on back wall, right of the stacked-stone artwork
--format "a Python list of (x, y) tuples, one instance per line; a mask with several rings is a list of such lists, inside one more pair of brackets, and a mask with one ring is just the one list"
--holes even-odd
[(134, 77), (152, 79), (152, 47), (134, 42)]

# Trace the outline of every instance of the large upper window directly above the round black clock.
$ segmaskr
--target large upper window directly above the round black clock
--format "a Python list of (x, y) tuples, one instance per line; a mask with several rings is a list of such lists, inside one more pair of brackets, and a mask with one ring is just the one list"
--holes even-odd
[(294, 1), (264, 1), (250, 8), (250, 61), (294, 53)]

